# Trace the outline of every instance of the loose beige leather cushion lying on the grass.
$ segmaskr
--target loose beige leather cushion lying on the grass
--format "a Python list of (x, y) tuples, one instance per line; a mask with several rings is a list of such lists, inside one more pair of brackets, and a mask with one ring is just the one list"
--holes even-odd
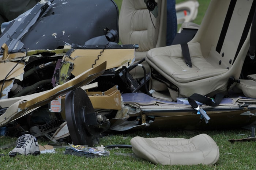
[(206, 134), (190, 139), (136, 136), (131, 145), (135, 155), (161, 165), (208, 165), (219, 159), (217, 144)]

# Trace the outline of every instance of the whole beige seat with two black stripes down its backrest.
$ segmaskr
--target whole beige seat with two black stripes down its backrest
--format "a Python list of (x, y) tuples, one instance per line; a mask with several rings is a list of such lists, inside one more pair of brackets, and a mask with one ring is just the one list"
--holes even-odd
[(159, 82), (154, 79), (152, 88), (169, 90), (173, 100), (178, 95), (189, 97), (193, 93), (227, 92), (229, 77), (239, 78), (248, 52), (253, 15), (251, 7), (252, 0), (210, 2), (197, 34), (188, 42), (191, 68), (185, 63), (181, 45), (149, 50), (148, 64), (163, 76), (169, 87), (174, 86), (176, 90), (167, 86), (160, 89)]

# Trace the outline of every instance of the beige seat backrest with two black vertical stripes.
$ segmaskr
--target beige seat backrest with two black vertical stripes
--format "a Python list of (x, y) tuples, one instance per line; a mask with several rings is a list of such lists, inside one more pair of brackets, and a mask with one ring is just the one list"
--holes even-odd
[(200, 43), (204, 58), (212, 66), (228, 68), (237, 78), (249, 47), (255, 4), (253, 0), (211, 0), (202, 24), (191, 40)]

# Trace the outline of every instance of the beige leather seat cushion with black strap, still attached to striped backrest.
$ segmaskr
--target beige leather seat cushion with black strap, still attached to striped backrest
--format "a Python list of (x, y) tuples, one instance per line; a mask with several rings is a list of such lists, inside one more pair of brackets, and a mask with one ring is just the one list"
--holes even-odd
[(180, 45), (151, 49), (147, 53), (146, 61), (159, 74), (177, 86), (181, 96), (189, 97), (193, 93), (206, 95), (215, 90), (225, 92), (228, 78), (221, 75), (228, 69), (217, 68), (208, 62), (203, 57), (200, 43), (189, 43), (188, 46), (191, 68), (184, 61)]

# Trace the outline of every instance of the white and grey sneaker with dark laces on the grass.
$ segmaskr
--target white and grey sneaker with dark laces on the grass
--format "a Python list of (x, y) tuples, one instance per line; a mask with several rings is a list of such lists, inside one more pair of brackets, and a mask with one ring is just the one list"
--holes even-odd
[(9, 152), (9, 156), (14, 157), (17, 154), (39, 155), (40, 150), (39, 150), (37, 138), (29, 134), (20, 136), (16, 141), (16, 147)]

